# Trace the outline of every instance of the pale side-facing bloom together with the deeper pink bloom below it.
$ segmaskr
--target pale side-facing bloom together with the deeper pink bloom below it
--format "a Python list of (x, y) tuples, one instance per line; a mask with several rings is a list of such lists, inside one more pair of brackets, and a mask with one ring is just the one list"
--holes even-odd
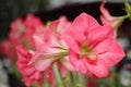
[(50, 69), (53, 62), (57, 62), (62, 77), (67, 75), (68, 71), (74, 71), (69, 61), (68, 46), (62, 39), (64, 30), (70, 25), (71, 22), (61, 16), (43, 27), (41, 32), (33, 35), (34, 49), (26, 49), (23, 46), (16, 47), (19, 57), (16, 64), (27, 86), (32, 82), (39, 84), (39, 82), (44, 82), (45, 77), (55, 83), (52, 82), (53, 75), (51, 75), (51, 78), (48, 75), (48, 71), (52, 74)]

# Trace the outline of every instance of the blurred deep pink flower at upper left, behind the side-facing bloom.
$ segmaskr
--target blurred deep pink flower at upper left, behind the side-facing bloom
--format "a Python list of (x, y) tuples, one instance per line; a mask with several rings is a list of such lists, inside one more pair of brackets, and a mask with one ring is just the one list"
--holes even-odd
[(33, 35), (37, 32), (43, 32), (45, 24), (39, 17), (28, 14), (24, 21), (24, 25), (26, 27), (26, 30), (24, 32), (24, 41), (27, 41), (25, 46), (33, 48), (35, 46), (33, 41)]

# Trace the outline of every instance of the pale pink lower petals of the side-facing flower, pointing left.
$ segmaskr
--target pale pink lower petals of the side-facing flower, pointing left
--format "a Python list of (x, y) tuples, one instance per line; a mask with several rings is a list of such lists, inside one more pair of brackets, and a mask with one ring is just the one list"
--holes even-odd
[(59, 52), (61, 52), (60, 49), (48, 46), (47, 44), (43, 44), (40, 45), (39, 50), (37, 50), (36, 53), (33, 55), (28, 64), (33, 64), (36, 70), (45, 71), (51, 65), (55, 60), (59, 59), (55, 58), (53, 55), (45, 58), (45, 55), (51, 55)]

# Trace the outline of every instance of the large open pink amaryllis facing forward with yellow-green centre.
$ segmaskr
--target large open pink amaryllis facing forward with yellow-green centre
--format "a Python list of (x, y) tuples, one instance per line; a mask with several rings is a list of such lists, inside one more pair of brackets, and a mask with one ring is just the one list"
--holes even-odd
[(69, 47), (69, 59), (74, 69), (97, 77), (108, 75), (108, 69), (124, 55), (122, 48), (114, 38), (114, 29), (100, 26), (94, 17), (80, 14), (63, 34)]

